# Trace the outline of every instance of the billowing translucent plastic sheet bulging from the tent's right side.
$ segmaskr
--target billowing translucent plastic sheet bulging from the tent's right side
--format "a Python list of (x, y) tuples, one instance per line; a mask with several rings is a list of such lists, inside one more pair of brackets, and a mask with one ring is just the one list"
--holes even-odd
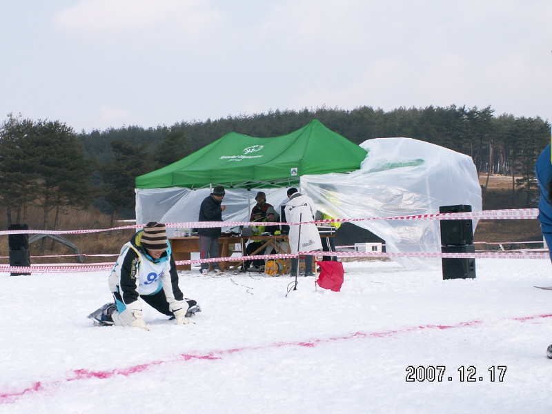
[[(331, 217), (371, 218), (439, 213), (440, 206), (482, 209), (471, 157), (411, 138), (364, 141), (361, 168), (301, 177), (302, 190)], [(440, 253), (439, 220), (355, 221), (386, 242), (386, 251)], [(473, 228), (475, 229), (474, 222)], [(440, 268), (440, 259), (395, 259), (408, 268)]]

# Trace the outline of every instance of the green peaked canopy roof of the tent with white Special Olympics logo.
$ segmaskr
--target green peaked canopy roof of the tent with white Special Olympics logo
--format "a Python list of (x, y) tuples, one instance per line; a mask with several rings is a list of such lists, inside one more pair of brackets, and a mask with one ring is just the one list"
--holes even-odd
[(180, 161), (137, 177), (136, 188), (290, 186), (302, 175), (357, 170), (366, 153), (317, 120), (281, 137), (228, 132)]

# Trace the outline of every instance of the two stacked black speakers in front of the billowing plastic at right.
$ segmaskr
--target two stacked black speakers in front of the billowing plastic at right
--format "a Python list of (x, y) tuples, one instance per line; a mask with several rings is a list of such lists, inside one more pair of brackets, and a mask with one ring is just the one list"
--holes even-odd
[[(471, 206), (441, 206), (439, 213), (465, 213)], [(471, 220), (440, 220), (442, 253), (474, 253)], [(475, 259), (442, 259), (443, 279), (475, 279)]]

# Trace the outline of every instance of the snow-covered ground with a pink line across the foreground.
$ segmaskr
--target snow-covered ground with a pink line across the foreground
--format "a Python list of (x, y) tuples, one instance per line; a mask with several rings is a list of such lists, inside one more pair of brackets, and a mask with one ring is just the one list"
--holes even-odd
[(176, 326), (145, 305), (149, 332), (86, 319), (107, 273), (3, 273), (0, 413), (551, 413), (552, 290), (533, 287), (550, 262), (476, 267), (346, 263), (340, 293), (302, 277), (287, 297), (290, 277), (181, 273), (203, 312)]

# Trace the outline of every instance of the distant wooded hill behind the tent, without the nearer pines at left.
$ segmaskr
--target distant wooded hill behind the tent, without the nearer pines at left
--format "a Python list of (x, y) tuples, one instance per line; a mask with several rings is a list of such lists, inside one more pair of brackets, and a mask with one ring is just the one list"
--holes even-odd
[[(170, 133), (186, 142), (184, 155), (188, 155), (228, 132), (239, 132), (252, 137), (279, 137), (302, 128), (313, 119), (324, 126), (361, 144), (366, 139), (384, 137), (410, 137), (420, 139), (470, 155), (477, 171), (491, 174), (531, 175), (534, 159), (550, 141), (551, 128), (540, 117), (525, 118), (503, 114), (493, 115), (491, 107), (479, 109), (428, 106), (426, 108), (397, 108), (385, 112), (371, 106), (353, 110), (317, 108), (315, 110), (276, 110), (266, 114), (240, 115), (207, 121), (181, 121), (170, 127), (110, 128), (79, 135), (88, 157), (106, 162), (115, 157), (110, 148), (113, 140), (132, 145), (147, 145), (154, 151), (166, 141)], [(536, 155), (535, 155), (536, 154)], [(169, 156), (169, 155), (167, 155)], [(161, 166), (174, 162), (163, 161)], [(529, 160), (529, 161), (527, 161)]]

